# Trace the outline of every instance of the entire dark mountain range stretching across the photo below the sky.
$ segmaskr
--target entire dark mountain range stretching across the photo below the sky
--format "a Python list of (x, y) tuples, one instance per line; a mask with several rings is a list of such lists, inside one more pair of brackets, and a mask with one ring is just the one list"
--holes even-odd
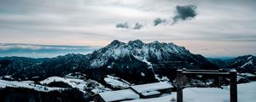
[(155, 82), (156, 75), (174, 79), (179, 68), (235, 68), (253, 72), (254, 59), (254, 56), (246, 56), (225, 61), (209, 59), (210, 62), (202, 55), (191, 54), (188, 49), (172, 42), (145, 43), (135, 40), (125, 43), (114, 40), (92, 54), (66, 54), (50, 59), (1, 58), (0, 76), (11, 76), (13, 80), (39, 81), (79, 71), (98, 81), (101, 81), (102, 77), (113, 75), (129, 82), (145, 83)]

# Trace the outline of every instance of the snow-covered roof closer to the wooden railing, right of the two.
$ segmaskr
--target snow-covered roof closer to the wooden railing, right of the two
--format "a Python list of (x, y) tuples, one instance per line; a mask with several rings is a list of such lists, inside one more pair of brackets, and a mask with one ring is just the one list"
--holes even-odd
[(156, 91), (160, 89), (173, 88), (173, 86), (168, 82), (154, 82), (143, 85), (131, 86), (137, 93), (142, 94), (145, 92)]

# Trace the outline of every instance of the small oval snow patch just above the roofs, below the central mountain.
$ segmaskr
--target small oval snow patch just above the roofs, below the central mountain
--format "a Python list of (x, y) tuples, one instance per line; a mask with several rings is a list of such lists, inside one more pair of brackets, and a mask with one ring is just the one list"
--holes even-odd
[(113, 88), (129, 88), (131, 85), (131, 83), (126, 82), (119, 77), (112, 77), (109, 75), (104, 78), (104, 81), (111, 85)]

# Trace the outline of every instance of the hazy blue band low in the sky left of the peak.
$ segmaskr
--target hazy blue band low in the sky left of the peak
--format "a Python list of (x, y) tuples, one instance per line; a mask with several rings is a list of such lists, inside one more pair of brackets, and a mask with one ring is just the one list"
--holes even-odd
[(0, 56), (52, 58), (65, 54), (89, 54), (96, 48), (98, 47), (0, 42)]

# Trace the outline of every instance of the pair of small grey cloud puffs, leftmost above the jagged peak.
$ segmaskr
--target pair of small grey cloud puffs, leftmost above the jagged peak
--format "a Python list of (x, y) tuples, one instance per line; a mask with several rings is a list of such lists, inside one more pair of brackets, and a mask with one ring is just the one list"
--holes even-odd
[(143, 24), (136, 22), (134, 25), (129, 24), (128, 22), (116, 24), (116, 28), (123, 29), (132, 29), (132, 30), (140, 30), (143, 28)]

